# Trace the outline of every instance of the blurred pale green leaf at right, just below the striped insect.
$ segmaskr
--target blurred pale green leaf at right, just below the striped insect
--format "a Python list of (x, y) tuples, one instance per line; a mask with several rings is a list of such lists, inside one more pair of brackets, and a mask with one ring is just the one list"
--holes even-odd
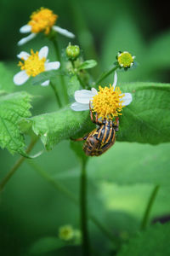
[(149, 183), (169, 186), (169, 152), (170, 143), (152, 146), (116, 142), (99, 158), (90, 158), (88, 173), (95, 182), (105, 180), (119, 185)]

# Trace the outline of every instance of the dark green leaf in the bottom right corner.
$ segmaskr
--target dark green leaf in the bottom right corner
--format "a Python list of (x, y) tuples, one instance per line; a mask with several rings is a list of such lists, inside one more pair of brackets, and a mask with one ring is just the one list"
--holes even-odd
[(132, 238), (117, 256), (170, 255), (170, 224), (156, 224)]

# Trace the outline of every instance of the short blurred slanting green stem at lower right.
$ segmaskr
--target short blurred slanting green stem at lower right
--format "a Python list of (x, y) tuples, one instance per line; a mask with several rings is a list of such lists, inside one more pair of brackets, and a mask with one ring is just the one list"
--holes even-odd
[(150, 217), (150, 211), (151, 211), (151, 208), (153, 207), (154, 201), (156, 200), (156, 195), (157, 195), (157, 192), (159, 189), (160, 189), (160, 185), (156, 185), (150, 195), (150, 199), (148, 201), (147, 207), (144, 212), (144, 218), (142, 219), (142, 223), (140, 226), (141, 230), (144, 230), (148, 224), (148, 220)]

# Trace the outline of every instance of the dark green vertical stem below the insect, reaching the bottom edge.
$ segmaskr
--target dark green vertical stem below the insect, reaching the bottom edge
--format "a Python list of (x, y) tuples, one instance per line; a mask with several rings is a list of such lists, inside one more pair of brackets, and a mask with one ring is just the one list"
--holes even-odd
[(82, 160), (80, 183), (80, 207), (81, 207), (81, 227), (82, 227), (82, 255), (88, 256), (89, 252), (89, 238), (88, 238), (88, 213), (87, 213), (87, 173), (86, 162)]

